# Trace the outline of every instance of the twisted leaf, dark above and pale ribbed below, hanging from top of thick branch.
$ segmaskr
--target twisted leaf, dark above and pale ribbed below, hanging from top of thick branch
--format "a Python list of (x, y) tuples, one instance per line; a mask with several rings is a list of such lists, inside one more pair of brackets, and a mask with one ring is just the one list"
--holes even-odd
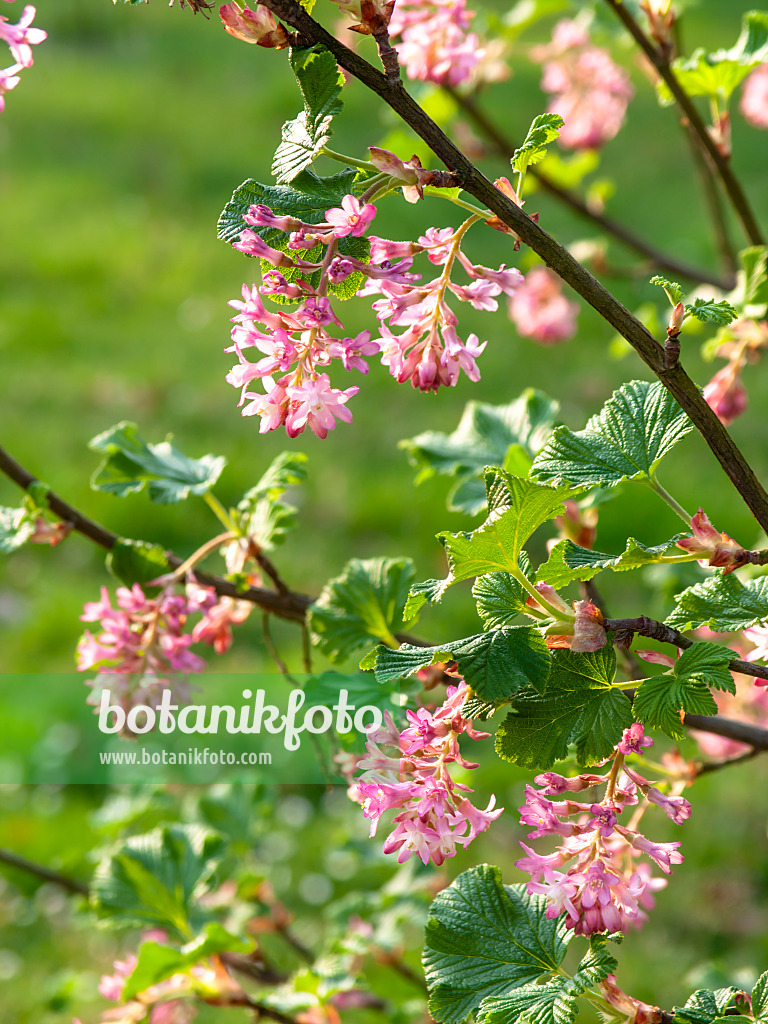
[(308, 167), (333, 134), (331, 122), (341, 113), (344, 77), (325, 46), (289, 51), (304, 110), (283, 126), (283, 141), (272, 162), (279, 183), (292, 181)]

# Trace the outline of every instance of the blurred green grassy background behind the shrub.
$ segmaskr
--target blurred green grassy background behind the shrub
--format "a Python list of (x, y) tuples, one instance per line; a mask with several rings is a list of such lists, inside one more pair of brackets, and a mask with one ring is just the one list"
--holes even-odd
[[(750, 6), (740, 0), (727, 5), (701, 0), (687, 8), (684, 35), (691, 46), (730, 45), (738, 15)], [(4, 6), (3, 13), (14, 18), (18, 9), (18, 4)], [(321, 13), (331, 20), (327, 11)], [(470, 398), (504, 402), (527, 386), (559, 399), (563, 420), (580, 428), (622, 381), (646, 378), (634, 355), (609, 354), (612, 332), (590, 309), (582, 310), (578, 337), (553, 348), (520, 339), (503, 310), (495, 315), (462, 310), (464, 331), (488, 339), (479, 384), (464, 379), (456, 389), (421, 395), (396, 385), (374, 365), (364, 382), (354, 381), (362, 385), (351, 403), (354, 422), (340, 425), (326, 441), (309, 434), (294, 442), (276, 432), (258, 434), (257, 422), (240, 417), (237, 393), (223, 380), (231, 365), (223, 353), (226, 302), (239, 297), (244, 281), (252, 282), (254, 268), (216, 240), (215, 225), (242, 180), (269, 179), (281, 125), (298, 109), (285, 55), (246, 46), (228, 37), (215, 16), (206, 20), (189, 10), (169, 10), (161, 0), (138, 7), (113, 7), (109, 0), (39, 0), (36, 24), (49, 32), (49, 40), (37, 48), (34, 68), (25, 72), (0, 117), (2, 443), (53, 489), (115, 531), (158, 542), (179, 555), (216, 531), (202, 501), (162, 507), (144, 496), (117, 501), (89, 489), (96, 465), (87, 451), (89, 438), (128, 419), (139, 424), (147, 440), (173, 432), (190, 456), (226, 456), (229, 467), (217, 488), (225, 504), (237, 501), (280, 451), (295, 446), (307, 453), (309, 480), (294, 496), (301, 506), (300, 529), (278, 556), (296, 589), (318, 593), (351, 556), (409, 555), (418, 579), (441, 575), (444, 565), (434, 534), (469, 528), (470, 520), (445, 511), (446, 481), (413, 486), (413, 470), (397, 450), (400, 439), (427, 428), (450, 431)], [(618, 45), (621, 54), (621, 37)], [(657, 106), (633, 54), (623, 52), (637, 96), (596, 174), (616, 184), (608, 212), (680, 259), (715, 267), (699, 184), (676, 116)], [(518, 56), (514, 75), (482, 97), (518, 139), (544, 109), (539, 75), (536, 66)], [(382, 104), (356, 83), (348, 86), (345, 103), (336, 150), (364, 156), (365, 146), (397, 129)], [(738, 114), (733, 120), (735, 168), (768, 223), (768, 136), (750, 129)], [(400, 156), (410, 156), (407, 141)], [(493, 159), (482, 166), (489, 175), (506, 171)], [(531, 194), (526, 209), (539, 210), (542, 225), (569, 246), (596, 237), (544, 195)], [(455, 224), (457, 213), (439, 201), (413, 208), (392, 200), (380, 205), (376, 227), (380, 234), (404, 239), (414, 237), (415, 222), (420, 229)], [(738, 240), (737, 227), (731, 227)], [(478, 231), (467, 249), (486, 265), (518, 260), (523, 269), (527, 265), (524, 252), (515, 256), (497, 232)], [(608, 287), (630, 308), (655, 301), (664, 315), (660, 293), (646, 283), (648, 273), (620, 272), (634, 256), (613, 245), (608, 256), (616, 270), (616, 275), (605, 274)], [(370, 326), (365, 300), (353, 300), (343, 312), (350, 332)], [(690, 336), (684, 345), (685, 365), (700, 384), (716, 369), (698, 355), (698, 342), (706, 337)], [(347, 386), (346, 380), (334, 383)], [(746, 385), (751, 409), (732, 430), (765, 478), (768, 421), (762, 413), (768, 378), (763, 368), (748, 371)], [(718, 528), (748, 546), (757, 542), (754, 521), (696, 436), (679, 445), (660, 477), (689, 508), (702, 505)], [(0, 480), (0, 504), (13, 505), (18, 498), (13, 484)], [(677, 522), (653, 495), (627, 487), (606, 507), (598, 545), (621, 550), (628, 528), (650, 543), (669, 537)], [(535, 556), (543, 555), (543, 545), (544, 540), (538, 542)], [(663, 617), (671, 594), (699, 575), (695, 566), (686, 566), (675, 578), (648, 571), (602, 586), (613, 614)], [(26, 548), (3, 559), (2, 669), (70, 671), (82, 629), (80, 607), (109, 582), (101, 552), (79, 537), (55, 550)], [(476, 630), (467, 591), (456, 590), (438, 611), (424, 616), (422, 635), (439, 640)], [(275, 626), (274, 634), (284, 655), (296, 665), (295, 631)], [(241, 628), (227, 656), (232, 671), (271, 668), (257, 616)], [(84, 692), (71, 694), (73, 706)], [(53, 730), (60, 726), (34, 685), (29, 715), (37, 722), (48, 716)], [(686, 748), (689, 754), (694, 750), (692, 742)], [(514, 807), (521, 802), (523, 776), (502, 765), (490, 750), (482, 761), (480, 796), (497, 792), (509, 813), (445, 866), (456, 873), (487, 858), (503, 866), (507, 881), (519, 881), (512, 862), (522, 833)], [(744, 980), (739, 971), (749, 977), (768, 967), (766, 782), (760, 761), (707, 776), (692, 794), (693, 816), (684, 834), (673, 837), (672, 825), (654, 822), (654, 838), (683, 839), (687, 861), (662, 893), (652, 927), (625, 942), (620, 974), (625, 989), (669, 1007), (695, 987), (691, 972), (701, 964), (736, 982)], [(89, 851), (115, 834), (114, 818), (97, 812), (106, 796), (98, 787), (3, 786), (0, 845), (87, 878)], [(381, 885), (392, 871), (379, 844), (366, 839), (358, 810), (341, 796), (314, 787), (260, 798), (273, 813), (253, 840), (255, 856), (267, 871), (278, 865), (275, 888), (302, 915), (299, 927), (311, 940), (319, 936), (319, 911), (328, 900), (355, 886)], [(145, 816), (148, 821), (183, 816), (193, 798), (178, 791), (147, 793)], [(261, 804), (255, 809), (248, 804), (246, 791), (240, 799), (244, 816), (263, 810)], [(317, 840), (329, 821), (332, 839), (349, 844), (346, 873), (329, 859), (330, 843), (317, 856)], [(302, 888), (306, 877), (314, 881)], [(95, 995), (97, 976), (120, 948), (130, 947), (130, 940), (118, 946), (94, 932), (87, 918), (74, 915), (60, 892), (40, 889), (18, 872), (3, 869), (0, 893), (3, 1021), (69, 1024), (73, 1014), (81, 1015), (84, 1024), (95, 1020), (105, 1008)], [(415, 929), (409, 954), (414, 965), (418, 946)], [(86, 973), (71, 973), (75, 969)], [(406, 991), (403, 998), (412, 994)], [(226, 1013), (227, 1019), (239, 1018), (237, 1011)]]

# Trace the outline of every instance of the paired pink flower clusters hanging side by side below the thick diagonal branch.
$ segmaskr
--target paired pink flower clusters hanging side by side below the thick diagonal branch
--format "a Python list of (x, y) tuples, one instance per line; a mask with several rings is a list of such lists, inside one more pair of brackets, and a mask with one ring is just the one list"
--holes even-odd
[[(333, 359), (339, 359), (345, 370), (366, 374), (367, 360), (381, 355), (399, 382), (411, 380), (414, 387), (425, 391), (436, 390), (441, 384), (455, 385), (462, 370), (470, 380), (479, 379), (475, 357), (485, 344), (478, 344), (476, 335), (470, 335), (466, 343), (458, 336), (458, 321), (445, 302), (445, 292), (450, 290), (476, 309), (496, 309), (496, 296), (512, 294), (522, 275), (505, 266), (492, 270), (470, 262), (460, 248), (466, 224), (457, 230), (429, 228), (418, 243), (372, 236), (371, 262), (339, 254), (338, 241), (364, 236), (375, 215), (374, 206), (360, 204), (353, 196), (344, 197), (340, 207), (327, 210), (321, 224), (279, 216), (262, 205), (252, 206), (244, 215), (250, 227), (241, 233), (234, 248), (260, 257), (274, 269), (263, 275), (260, 286), (243, 286), (243, 302), (229, 302), (238, 313), (232, 317), (232, 344), (226, 351), (236, 352), (238, 365), (226, 380), (241, 389), (243, 415), (261, 418), (260, 432), (285, 426), (289, 436), (295, 437), (309, 427), (318, 437), (326, 437), (337, 420), (348, 423), (352, 417), (346, 403), (359, 388), (342, 391), (331, 386), (324, 371)], [(289, 251), (273, 249), (253, 227), (286, 232)], [(293, 254), (311, 250), (318, 243), (327, 247), (321, 262)], [(419, 284), (420, 278), (409, 272), (414, 256), (422, 252), (443, 267), (442, 273), (427, 284)], [(470, 284), (457, 285), (451, 280), (457, 260)], [(290, 269), (295, 280), (289, 282), (281, 269)], [(366, 288), (358, 294), (381, 295), (374, 303), (379, 319), (403, 326), (401, 335), (393, 335), (387, 327), (381, 329), (379, 338), (372, 338), (370, 331), (353, 338), (331, 333), (339, 328), (343, 331), (343, 325), (328, 298), (329, 285), (355, 272), (367, 278)], [(313, 273), (318, 273), (319, 280), (311, 287), (304, 279)], [(300, 302), (293, 309), (280, 306), (268, 310), (262, 296)], [(245, 354), (248, 349), (256, 349), (262, 357), (251, 361)], [(263, 394), (249, 390), (254, 380), (261, 381)]]

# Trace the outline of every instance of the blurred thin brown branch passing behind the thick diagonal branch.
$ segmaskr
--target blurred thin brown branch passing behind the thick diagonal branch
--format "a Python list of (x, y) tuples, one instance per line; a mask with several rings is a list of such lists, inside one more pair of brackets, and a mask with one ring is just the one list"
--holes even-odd
[[(464, 95), (451, 86), (443, 86), (443, 89), (450, 96), (453, 97), (459, 106), (461, 106), (467, 117), (472, 120), (475, 127), (478, 128), (486, 136), (486, 138), (494, 143), (499, 156), (503, 157), (505, 160), (511, 160), (515, 152), (515, 145), (510, 139), (499, 131), (499, 128), (475, 103), (474, 98), (472, 96)], [(712, 273), (711, 270), (706, 270), (700, 267), (692, 266), (690, 263), (673, 259), (666, 253), (660, 252), (649, 243), (639, 238), (639, 236), (635, 234), (634, 231), (631, 231), (629, 227), (618, 223), (618, 221), (613, 220), (611, 217), (607, 217), (603, 213), (591, 210), (580, 196), (577, 196), (569, 189), (556, 184), (545, 171), (541, 170), (541, 168), (529, 167), (528, 174), (537, 179), (545, 191), (554, 196), (559, 202), (564, 203), (565, 206), (573, 210), (574, 213), (585, 217), (587, 220), (591, 220), (599, 227), (602, 227), (603, 230), (608, 231), (609, 234), (618, 239), (630, 249), (634, 249), (635, 252), (639, 253), (641, 256), (645, 256), (653, 267), (656, 267), (659, 270), (667, 270), (669, 273), (674, 273), (680, 278), (688, 278), (690, 281), (713, 285), (715, 288), (719, 288), (724, 292), (730, 291), (734, 287), (735, 278), (733, 275), (728, 279), (724, 279), (718, 274)]]

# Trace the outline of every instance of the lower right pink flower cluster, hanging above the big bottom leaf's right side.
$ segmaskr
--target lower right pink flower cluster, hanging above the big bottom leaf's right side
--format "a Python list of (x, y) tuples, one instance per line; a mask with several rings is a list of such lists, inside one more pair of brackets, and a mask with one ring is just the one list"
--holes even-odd
[[(526, 856), (515, 866), (530, 874), (528, 892), (547, 898), (547, 916), (566, 914), (565, 927), (577, 935), (640, 927), (646, 919), (644, 910), (653, 907), (652, 893), (667, 883), (653, 878), (647, 863), (636, 864), (636, 858), (645, 854), (666, 874), (683, 860), (680, 843), (653, 843), (637, 830), (649, 804), (660, 807), (676, 824), (690, 815), (687, 800), (666, 796), (624, 763), (626, 755), (641, 754), (651, 743), (643, 726), (635, 724), (625, 730), (616, 745), (608, 774), (565, 778), (545, 772), (535, 779), (539, 790), (525, 787), (525, 803), (519, 810), (521, 824), (534, 827), (528, 838), (557, 836), (559, 845), (554, 853), (542, 855), (520, 843)], [(570, 799), (570, 794), (603, 782), (607, 785), (599, 803)], [(566, 799), (551, 799), (562, 795)], [(625, 809), (636, 805), (629, 824), (620, 824)]]

